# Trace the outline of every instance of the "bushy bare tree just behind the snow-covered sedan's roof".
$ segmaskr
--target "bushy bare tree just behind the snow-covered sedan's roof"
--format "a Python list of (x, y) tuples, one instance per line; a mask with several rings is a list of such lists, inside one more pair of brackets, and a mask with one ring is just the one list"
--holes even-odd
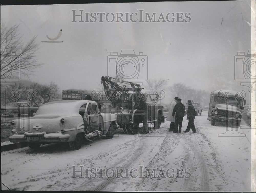
[(33, 83), (31, 84), (30, 89), (37, 92), (37, 98), (35, 100), (31, 100), (31, 104), (37, 107), (39, 107), (41, 104), (60, 98), (60, 88), (53, 82), (51, 82), (50, 85)]

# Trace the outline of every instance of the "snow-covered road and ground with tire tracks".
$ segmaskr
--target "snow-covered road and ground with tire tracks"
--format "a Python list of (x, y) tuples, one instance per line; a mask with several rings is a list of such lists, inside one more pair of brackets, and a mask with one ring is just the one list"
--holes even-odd
[[(187, 122), (184, 118), (183, 130)], [(47, 144), (38, 150), (25, 147), (2, 152), (2, 183), (11, 190), (251, 190), (250, 129), (239, 129), (245, 137), (231, 137), (237, 134), (235, 130), (218, 137), (226, 127), (211, 126), (207, 111), (195, 119), (196, 134), (169, 132), (169, 124), (162, 123), (158, 131), (139, 136), (125, 135), (121, 130), (113, 139), (95, 139), (76, 151), (63, 144)], [(241, 125), (246, 124), (242, 121)], [(77, 165), (77, 171), (83, 166), (82, 177), (76, 172), (73, 178), (72, 165)], [(125, 172), (121, 173), (124, 177), (116, 178), (109, 170), (108, 178), (103, 170), (99, 178), (98, 170), (96, 178), (87, 178), (86, 168), (120, 168)], [(146, 169), (152, 172), (154, 168), (155, 176), (148, 177)], [(7, 188), (2, 185), (2, 189)]]

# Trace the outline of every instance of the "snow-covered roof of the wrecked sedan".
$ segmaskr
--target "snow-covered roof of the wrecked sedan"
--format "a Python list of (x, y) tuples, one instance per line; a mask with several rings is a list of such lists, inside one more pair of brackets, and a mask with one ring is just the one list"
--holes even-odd
[(95, 103), (95, 101), (88, 100), (61, 100), (61, 101), (53, 101), (49, 103), (45, 103), (41, 105), (35, 116), (37, 115), (72, 115), (78, 114), (79, 109), (83, 104)]

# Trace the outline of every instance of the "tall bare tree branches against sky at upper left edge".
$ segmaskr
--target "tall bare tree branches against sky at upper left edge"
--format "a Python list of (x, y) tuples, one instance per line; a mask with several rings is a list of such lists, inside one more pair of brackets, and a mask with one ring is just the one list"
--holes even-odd
[(10, 28), (1, 25), (1, 78), (12, 73), (28, 75), (42, 65), (37, 63), (36, 52), (39, 44), (36, 37), (23, 43), (18, 29), (19, 25)]

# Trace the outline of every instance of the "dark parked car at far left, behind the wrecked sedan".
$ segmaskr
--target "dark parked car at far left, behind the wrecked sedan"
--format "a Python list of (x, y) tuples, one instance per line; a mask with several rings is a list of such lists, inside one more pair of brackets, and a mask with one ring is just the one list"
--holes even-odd
[(28, 114), (34, 116), (38, 107), (32, 106), (26, 102), (7, 102), (5, 106), (1, 106), (1, 115), (9, 115), (13, 117), (16, 115)]

